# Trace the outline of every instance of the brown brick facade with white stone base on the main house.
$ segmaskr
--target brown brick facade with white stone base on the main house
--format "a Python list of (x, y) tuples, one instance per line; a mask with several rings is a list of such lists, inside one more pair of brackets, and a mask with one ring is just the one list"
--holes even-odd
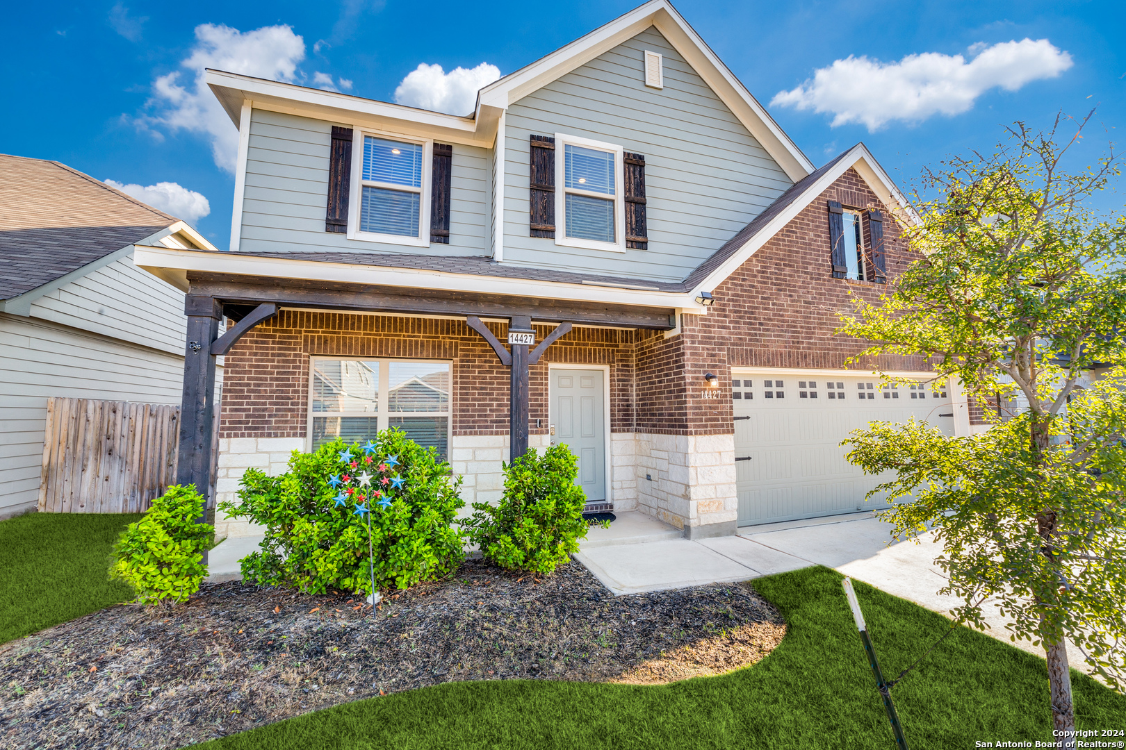
[[(709, 527), (732, 533), (731, 368), (840, 368), (864, 342), (834, 335), (838, 314), (851, 309), (854, 295), (876, 301), (886, 291), (872, 281), (832, 278), (829, 200), (884, 211), (886, 269), (893, 281), (912, 257), (891, 213), (849, 170), (713, 291), (716, 301), (707, 315), (681, 316), (679, 334), (575, 327), (553, 344), (529, 373), (531, 444), (548, 440), (548, 364), (608, 365), (613, 440), (606, 450), (614, 468), (607, 480), (616, 507), (640, 506), (688, 535)], [(500, 340), (507, 337), (506, 324), (489, 325)], [(537, 340), (551, 329), (537, 325)], [(452, 361), (450, 460), (455, 471), (474, 477), (466, 478), (467, 499), (499, 496), (499, 464), (507, 460), (509, 370), (459, 319), (280, 311), (226, 356), (220, 427), (224, 445), (249, 444), (249, 439), (297, 441), (286, 443), (291, 445), (303, 441), (310, 358), (319, 355)], [(922, 358), (904, 356), (864, 365), (927, 369)], [(718, 389), (705, 387), (705, 372), (720, 377)], [(225, 491), (236, 481), (238, 461), (232, 461)], [(486, 472), (481, 468), (485, 462), (495, 466)]]

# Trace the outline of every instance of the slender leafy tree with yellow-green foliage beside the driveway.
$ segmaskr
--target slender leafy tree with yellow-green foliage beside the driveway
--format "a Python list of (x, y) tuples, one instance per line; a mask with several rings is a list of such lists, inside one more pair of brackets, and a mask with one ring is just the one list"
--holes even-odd
[[(878, 304), (855, 304), (838, 333), (874, 342), (863, 355), (931, 358), (978, 404), (1002, 410), (984, 434), (919, 423), (852, 433), (849, 460), (897, 472), (874, 493), (897, 539), (932, 525), (938, 564), (984, 629), (982, 603), (1011, 617), (1012, 638), (1042, 644), (1055, 729), (1074, 728), (1066, 641), (1121, 689), (1126, 644), (1126, 222), (1084, 200), (1118, 174), (1112, 151), (1074, 172), (1060, 116), (1024, 124), (991, 154), (923, 172), (935, 196), (903, 228), (915, 260)], [(1073, 747), (1073, 746), (1070, 746)]]

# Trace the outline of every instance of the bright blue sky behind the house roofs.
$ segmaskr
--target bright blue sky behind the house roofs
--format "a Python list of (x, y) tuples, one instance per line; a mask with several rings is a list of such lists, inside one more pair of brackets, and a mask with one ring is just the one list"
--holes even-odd
[[(234, 179), (218, 162), (234, 126), (216, 120), (206, 92), (195, 90), (190, 60), (239, 61), (230, 66), (274, 71), (307, 85), (331, 80), (334, 88), (385, 101), (395, 100), (420, 64), (446, 73), (464, 67), (472, 72), (445, 81), (452, 96), (430, 91), (435, 101), (456, 107), (465, 99), (464, 91), (456, 96), (458, 87), (484, 80), (488, 65), (509, 73), (636, 4), (564, 2), (531, 11), (526, 2), (432, 0), (420, 17), (419, 3), (404, 0), (104, 0), (54, 4), (50, 13), (36, 3), (14, 3), (0, 29), (0, 152), (57, 160), (125, 184), (175, 183), (157, 193), (186, 211), (202, 211), (191, 195), (199, 193), (209, 213), (197, 226), (225, 249)], [(922, 165), (990, 148), (1001, 126), (1017, 119), (1044, 127), (1060, 109), (1081, 116), (1098, 106), (1076, 153), (1084, 163), (1116, 138), (1114, 128), (1126, 128), (1126, 34), (1116, 2), (682, 0), (677, 7), (819, 165), (864, 141), (910, 188)], [(269, 28), (279, 26), (289, 28)], [(1006, 45), (1026, 38), (1033, 42)], [(1033, 44), (1040, 39), (1046, 42)], [(900, 65), (909, 55), (926, 56)], [(991, 69), (990, 55), (1010, 58), (994, 60)], [(861, 56), (868, 63), (855, 60)], [(443, 83), (435, 71), (415, 74), (418, 85), (401, 97), (426, 96), (427, 87)], [(817, 71), (834, 85), (819, 88)], [(896, 88), (914, 85), (912, 75), (939, 93), (919, 103), (918, 91)], [(890, 87), (881, 94), (892, 97), (883, 108), (868, 106), (873, 97), (864, 87), (873, 81)], [(847, 90), (852, 82), (857, 90)], [(833, 100), (842, 87), (844, 101)], [(794, 92), (790, 103), (781, 98), (771, 105), (783, 91)], [(905, 111), (894, 97), (914, 101), (918, 116), (886, 119)], [(810, 107), (795, 106), (801, 101)], [(815, 111), (816, 103), (828, 111)], [(964, 111), (944, 114), (957, 109)], [(852, 121), (833, 126), (842, 119)], [(1099, 207), (1120, 209), (1123, 195), (1119, 184)]]

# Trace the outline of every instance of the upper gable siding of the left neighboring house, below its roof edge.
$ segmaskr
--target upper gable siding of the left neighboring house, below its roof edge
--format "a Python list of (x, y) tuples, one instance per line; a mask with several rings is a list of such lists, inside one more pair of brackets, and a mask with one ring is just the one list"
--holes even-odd
[(135, 266), (132, 256), (39, 297), (32, 316), (182, 356), (184, 292)]

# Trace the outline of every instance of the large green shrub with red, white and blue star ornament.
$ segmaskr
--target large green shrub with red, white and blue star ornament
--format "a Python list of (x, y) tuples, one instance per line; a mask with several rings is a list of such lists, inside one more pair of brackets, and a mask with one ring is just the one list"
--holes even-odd
[[(363, 486), (358, 473), (370, 475), (370, 484)], [(239, 501), (220, 508), (266, 527), (261, 551), (242, 560), (243, 580), (306, 594), (369, 595), (369, 560), (377, 589), (406, 588), (457, 569), (465, 555), (450, 524), (465, 505), (461, 481), (450, 481), (435, 449), (388, 430), (363, 446), (336, 440), (313, 453), (294, 451), (280, 477), (249, 469)], [(357, 513), (358, 506), (370, 513)]]

